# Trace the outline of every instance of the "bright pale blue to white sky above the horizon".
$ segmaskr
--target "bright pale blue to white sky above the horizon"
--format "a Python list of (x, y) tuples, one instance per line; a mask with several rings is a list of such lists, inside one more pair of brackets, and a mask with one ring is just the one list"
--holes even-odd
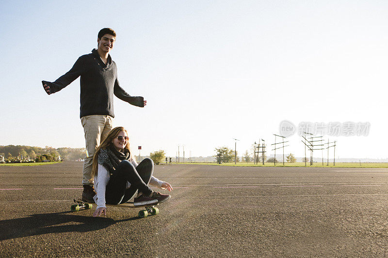
[[(0, 145), (84, 147), (79, 79), (47, 95), (97, 33), (121, 86), (115, 126), (137, 154), (245, 152), (273, 143), (283, 120), (370, 122), (367, 137), (333, 137), (339, 157), (387, 158), (387, 1), (3, 1)], [(326, 137), (327, 138), (327, 137)], [(301, 137), (286, 152), (304, 155)], [(271, 151), (269, 152), (269, 154)], [(318, 155), (320, 156), (320, 155)]]

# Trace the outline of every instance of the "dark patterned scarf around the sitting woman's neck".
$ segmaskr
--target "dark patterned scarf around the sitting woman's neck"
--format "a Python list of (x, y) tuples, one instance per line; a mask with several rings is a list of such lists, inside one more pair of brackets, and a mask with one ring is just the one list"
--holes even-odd
[(123, 149), (122, 152), (117, 151), (114, 146), (109, 146), (106, 149), (101, 149), (98, 154), (98, 164), (104, 166), (109, 174), (112, 175), (116, 167), (123, 160), (129, 160), (130, 153), (127, 149)]

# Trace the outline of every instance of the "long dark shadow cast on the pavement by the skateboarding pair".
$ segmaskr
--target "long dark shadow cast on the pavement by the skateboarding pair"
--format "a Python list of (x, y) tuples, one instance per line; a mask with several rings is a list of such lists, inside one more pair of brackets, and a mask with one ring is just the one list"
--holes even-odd
[(114, 220), (105, 217), (92, 217), (56, 212), (33, 214), (25, 218), (0, 221), (0, 241), (49, 233), (88, 232), (107, 228), (118, 222), (137, 220), (133, 217)]

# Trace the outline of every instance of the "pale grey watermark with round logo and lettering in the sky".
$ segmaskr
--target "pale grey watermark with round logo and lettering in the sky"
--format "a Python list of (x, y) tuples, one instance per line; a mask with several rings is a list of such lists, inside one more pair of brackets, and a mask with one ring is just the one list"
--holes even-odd
[(368, 136), (371, 129), (370, 122), (300, 122), (295, 126), (291, 121), (283, 120), (279, 124), (279, 133), (283, 137), (290, 137), (298, 133), (320, 136)]

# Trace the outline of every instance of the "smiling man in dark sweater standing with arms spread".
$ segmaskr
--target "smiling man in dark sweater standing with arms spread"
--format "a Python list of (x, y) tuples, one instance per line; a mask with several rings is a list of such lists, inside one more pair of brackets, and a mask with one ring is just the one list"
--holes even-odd
[(146, 106), (143, 97), (130, 96), (120, 87), (116, 63), (109, 55), (115, 39), (114, 30), (109, 28), (100, 30), (97, 37), (97, 49), (79, 57), (70, 71), (56, 81), (42, 81), (45, 91), (52, 94), (62, 90), (81, 76), (80, 118), (86, 142), (86, 158), (82, 171), (82, 200), (87, 202), (94, 202), (93, 197), (96, 194), (91, 177), (93, 155), (97, 146), (113, 128), (113, 94), (131, 105)]

